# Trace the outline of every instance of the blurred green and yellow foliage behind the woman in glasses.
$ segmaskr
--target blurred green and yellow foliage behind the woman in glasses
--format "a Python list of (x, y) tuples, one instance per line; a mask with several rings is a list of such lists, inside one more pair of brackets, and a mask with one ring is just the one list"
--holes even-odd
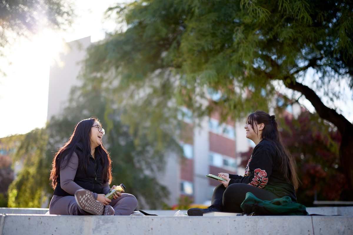
[[(70, 138), (75, 125), (84, 118), (102, 117), (106, 134), (103, 143), (108, 148), (113, 166), (113, 184), (123, 183), (126, 192), (134, 194), (139, 208), (161, 208), (168, 199), (168, 190), (162, 186), (156, 174), (163, 172), (164, 156), (168, 151), (181, 153), (173, 138), (163, 135), (169, 142), (157, 147), (139, 130), (133, 132), (120, 122), (121, 110), (110, 103), (98, 81), (85, 82), (74, 87), (68, 106), (53, 117), (43, 129), (26, 134), (17, 148), (17, 160), (23, 161), (18, 178), (9, 188), (9, 206), (40, 207), (53, 195), (49, 176), (53, 155)], [(114, 108), (115, 107), (115, 108)], [(138, 144), (136, 144), (138, 142)]]

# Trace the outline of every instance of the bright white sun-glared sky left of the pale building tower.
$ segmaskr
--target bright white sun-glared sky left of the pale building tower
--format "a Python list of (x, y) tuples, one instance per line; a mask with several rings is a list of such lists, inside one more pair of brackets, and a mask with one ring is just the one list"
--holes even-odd
[(104, 12), (117, 0), (75, 0), (72, 29), (67, 32), (44, 30), (30, 41), (22, 39), (7, 54), (9, 65), (1, 61), (0, 113), (6, 128), (0, 128), (0, 138), (25, 134), (42, 128), (47, 121), (50, 65), (65, 50), (65, 42), (91, 36), (91, 42), (104, 39), (105, 32), (116, 27), (114, 20), (104, 20)]

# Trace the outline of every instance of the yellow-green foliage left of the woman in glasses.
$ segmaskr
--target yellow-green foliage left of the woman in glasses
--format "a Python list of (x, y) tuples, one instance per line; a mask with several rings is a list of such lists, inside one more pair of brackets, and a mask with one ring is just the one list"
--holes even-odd
[(34, 129), (23, 135), (13, 155), (22, 169), (8, 188), (9, 207), (40, 208), (50, 199), (49, 175), (52, 159), (47, 157), (48, 134), (46, 129)]

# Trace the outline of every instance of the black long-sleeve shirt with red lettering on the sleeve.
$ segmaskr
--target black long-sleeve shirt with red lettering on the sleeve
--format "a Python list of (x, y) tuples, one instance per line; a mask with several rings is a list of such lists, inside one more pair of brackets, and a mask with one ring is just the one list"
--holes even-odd
[(255, 146), (244, 176), (229, 174), (229, 178), (229, 185), (249, 184), (268, 190), (279, 198), (289, 196), (297, 202), (294, 186), (280, 172), (280, 156), (274, 143), (265, 139)]

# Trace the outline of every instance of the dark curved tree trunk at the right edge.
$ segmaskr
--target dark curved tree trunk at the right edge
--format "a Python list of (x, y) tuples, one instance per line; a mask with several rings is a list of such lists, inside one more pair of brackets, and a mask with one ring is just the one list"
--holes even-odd
[(337, 126), (341, 133), (340, 161), (343, 173), (346, 175), (347, 183), (353, 189), (353, 125), (343, 115), (325, 106), (317, 94), (309, 87), (299, 82), (291, 82), (285, 85), (295, 91), (301, 92), (305, 98), (315, 107), (316, 112), (323, 119)]

